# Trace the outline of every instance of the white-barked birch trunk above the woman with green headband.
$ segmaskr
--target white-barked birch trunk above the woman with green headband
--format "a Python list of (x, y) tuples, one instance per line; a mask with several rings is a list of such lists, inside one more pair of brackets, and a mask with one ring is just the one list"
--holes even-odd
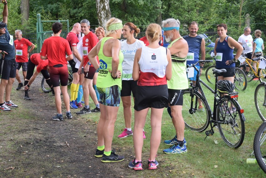
[(103, 27), (106, 21), (111, 18), (109, 0), (96, 0), (96, 8), (99, 26)]

